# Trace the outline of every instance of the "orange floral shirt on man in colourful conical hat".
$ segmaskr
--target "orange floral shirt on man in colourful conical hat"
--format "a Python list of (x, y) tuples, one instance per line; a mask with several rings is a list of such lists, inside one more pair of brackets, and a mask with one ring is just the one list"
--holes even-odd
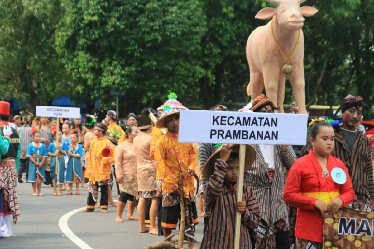
[(182, 161), (188, 169), (195, 170), (196, 152), (192, 144), (178, 143), (178, 134), (168, 132), (157, 140), (154, 159), (162, 179), (163, 193), (172, 193), (178, 188), (179, 172), (182, 172), (184, 197), (194, 196), (193, 177), (187, 177), (187, 171), (179, 164)]

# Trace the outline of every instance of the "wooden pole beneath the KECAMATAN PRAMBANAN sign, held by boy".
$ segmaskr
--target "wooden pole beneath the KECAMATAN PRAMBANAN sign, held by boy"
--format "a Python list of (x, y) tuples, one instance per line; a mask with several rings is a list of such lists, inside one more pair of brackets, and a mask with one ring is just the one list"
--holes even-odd
[[(236, 201), (241, 202), (243, 200), (243, 181), (244, 181), (244, 164), (245, 164), (245, 144), (240, 144), (239, 150), (239, 177), (237, 179), (237, 196)], [(240, 248), (240, 225), (242, 223), (242, 214), (236, 211), (235, 214), (235, 237), (234, 237), (234, 249)]]

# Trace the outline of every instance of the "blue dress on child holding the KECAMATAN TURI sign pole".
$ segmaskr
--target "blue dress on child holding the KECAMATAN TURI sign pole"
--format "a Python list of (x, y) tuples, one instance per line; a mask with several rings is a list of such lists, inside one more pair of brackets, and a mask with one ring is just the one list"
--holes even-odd
[[(49, 144), (47, 153), (55, 153), (55, 151), (56, 151), (56, 144), (55, 143), (56, 143), (56, 141)], [(65, 143), (61, 143), (60, 146), (61, 146), (62, 150), (67, 152)], [(50, 177), (52, 178), (52, 181), (56, 180), (56, 178), (57, 178), (57, 183), (62, 184), (62, 183), (64, 183), (64, 175), (65, 175), (65, 159), (64, 159), (64, 155), (61, 153), (61, 151), (58, 151), (58, 154), (61, 155), (62, 157), (51, 156), (51, 159), (50, 159)], [(58, 160), (56, 160), (56, 158)], [(56, 162), (57, 161), (58, 161), (58, 168), (57, 168), (57, 171), (56, 171)], [(57, 177), (57, 175), (58, 175), (58, 177)]]

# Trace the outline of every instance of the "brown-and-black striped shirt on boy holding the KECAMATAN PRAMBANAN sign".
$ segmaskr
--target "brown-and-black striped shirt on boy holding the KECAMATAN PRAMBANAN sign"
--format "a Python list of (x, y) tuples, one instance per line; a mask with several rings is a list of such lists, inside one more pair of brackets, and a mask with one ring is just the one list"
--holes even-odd
[[(237, 183), (231, 185), (224, 180), (226, 169), (227, 164), (218, 159), (214, 166), (214, 174), (210, 177), (204, 191), (203, 198), (211, 216), (200, 249), (234, 248)], [(243, 201), (246, 202), (247, 208), (242, 214), (239, 248), (251, 249), (250, 230), (253, 230), (260, 221), (260, 212), (251, 188), (245, 185), (242, 187)]]

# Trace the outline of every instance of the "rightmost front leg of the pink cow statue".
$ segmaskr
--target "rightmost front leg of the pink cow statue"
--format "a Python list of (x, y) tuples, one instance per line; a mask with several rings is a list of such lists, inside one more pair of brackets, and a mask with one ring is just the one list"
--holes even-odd
[(296, 64), (294, 66), (294, 72), (288, 75), (289, 81), (292, 85), (292, 90), (295, 94), (295, 99), (297, 106), (299, 108), (299, 113), (305, 113), (305, 78), (304, 78), (304, 63)]

